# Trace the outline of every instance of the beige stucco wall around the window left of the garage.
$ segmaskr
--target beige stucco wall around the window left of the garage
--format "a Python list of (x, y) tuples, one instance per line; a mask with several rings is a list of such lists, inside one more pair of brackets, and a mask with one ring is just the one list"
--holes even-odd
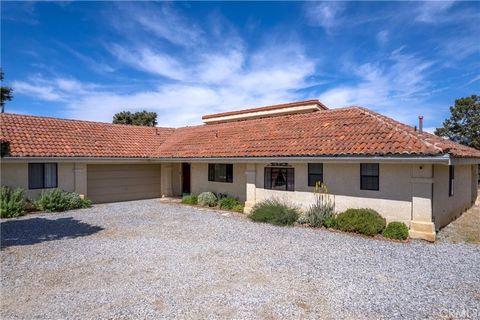
[[(65, 191), (75, 191), (75, 164), (58, 163), (58, 188)], [(2, 186), (20, 187), (25, 189), (28, 198), (35, 199), (44, 189), (28, 190), (28, 163), (1, 163)]]

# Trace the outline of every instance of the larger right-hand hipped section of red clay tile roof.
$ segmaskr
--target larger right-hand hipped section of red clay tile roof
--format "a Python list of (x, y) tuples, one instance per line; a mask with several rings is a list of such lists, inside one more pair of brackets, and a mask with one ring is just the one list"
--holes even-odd
[(442, 155), (468, 148), (360, 107), (179, 128), (159, 149), (168, 157)]

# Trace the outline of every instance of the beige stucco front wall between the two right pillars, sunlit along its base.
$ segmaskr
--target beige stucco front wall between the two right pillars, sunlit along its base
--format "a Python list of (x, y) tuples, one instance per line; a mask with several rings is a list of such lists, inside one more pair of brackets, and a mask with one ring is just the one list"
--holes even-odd
[[(292, 163), (295, 169), (295, 191), (263, 189), (264, 167), (256, 165), (256, 201), (270, 197), (287, 200), (302, 208), (314, 202), (313, 187), (308, 187), (308, 164)], [(324, 183), (330, 194), (335, 195), (338, 212), (348, 208), (372, 208), (387, 220), (404, 221), (407, 224), (412, 214), (411, 177), (412, 165), (380, 164), (380, 190), (360, 190), (360, 165), (324, 163)]]

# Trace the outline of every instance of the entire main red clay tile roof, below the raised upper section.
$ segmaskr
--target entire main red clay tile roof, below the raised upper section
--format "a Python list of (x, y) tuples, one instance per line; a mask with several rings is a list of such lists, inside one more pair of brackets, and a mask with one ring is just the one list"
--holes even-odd
[(210, 158), (425, 156), (480, 158), (360, 107), (178, 129), (0, 114), (12, 157)]

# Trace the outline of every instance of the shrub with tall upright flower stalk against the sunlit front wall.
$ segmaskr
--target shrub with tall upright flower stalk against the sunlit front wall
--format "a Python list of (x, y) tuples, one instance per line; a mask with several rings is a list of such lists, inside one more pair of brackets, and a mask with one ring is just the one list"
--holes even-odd
[(305, 221), (312, 227), (321, 227), (325, 221), (335, 215), (335, 198), (328, 194), (327, 186), (315, 184), (315, 204), (305, 212)]

